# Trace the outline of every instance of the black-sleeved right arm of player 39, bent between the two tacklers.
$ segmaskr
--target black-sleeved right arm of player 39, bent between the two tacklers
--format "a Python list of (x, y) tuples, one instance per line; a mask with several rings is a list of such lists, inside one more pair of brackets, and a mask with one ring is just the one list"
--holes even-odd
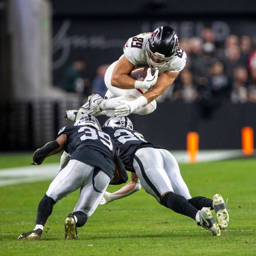
[(117, 152), (114, 156), (114, 162), (115, 162), (115, 174), (112, 180), (110, 180), (110, 185), (120, 185), (125, 183), (128, 180), (128, 175), (125, 170), (124, 164), (120, 157), (118, 156)]

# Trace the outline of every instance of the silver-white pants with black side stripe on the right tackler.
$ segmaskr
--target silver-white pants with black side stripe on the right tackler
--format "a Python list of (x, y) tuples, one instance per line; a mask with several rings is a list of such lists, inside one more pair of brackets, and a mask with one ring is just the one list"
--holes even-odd
[(191, 198), (176, 159), (166, 149), (138, 149), (134, 156), (133, 167), (141, 186), (159, 203), (161, 196), (168, 191), (184, 196), (187, 200)]

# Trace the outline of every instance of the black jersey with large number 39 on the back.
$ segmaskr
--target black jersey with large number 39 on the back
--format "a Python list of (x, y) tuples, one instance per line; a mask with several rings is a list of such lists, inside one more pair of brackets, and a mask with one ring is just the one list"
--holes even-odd
[(113, 157), (118, 150), (115, 142), (104, 132), (89, 126), (66, 126), (57, 137), (67, 135), (64, 150), (70, 159), (100, 167), (112, 179), (115, 170)]

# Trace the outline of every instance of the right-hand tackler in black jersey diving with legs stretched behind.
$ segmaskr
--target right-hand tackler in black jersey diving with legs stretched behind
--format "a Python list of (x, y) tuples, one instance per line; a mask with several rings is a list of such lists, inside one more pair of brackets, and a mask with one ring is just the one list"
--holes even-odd
[[(118, 145), (119, 156), (126, 170), (132, 174), (132, 181), (115, 193), (105, 192), (100, 204), (107, 204), (132, 194), (141, 186), (165, 207), (174, 212), (193, 218), (198, 225), (220, 235), (220, 227), (228, 225), (228, 212), (223, 198), (215, 195), (212, 199), (191, 197), (188, 187), (181, 177), (177, 161), (172, 154), (161, 146), (147, 142), (142, 134), (133, 131), (132, 122), (127, 117), (111, 117), (101, 127)], [(137, 188), (136, 188), (137, 186)], [(212, 218), (215, 209), (219, 226)]]

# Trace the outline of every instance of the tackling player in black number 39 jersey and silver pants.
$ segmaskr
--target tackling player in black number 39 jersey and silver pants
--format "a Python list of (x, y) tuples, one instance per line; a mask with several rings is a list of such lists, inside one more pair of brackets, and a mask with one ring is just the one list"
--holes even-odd
[(45, 157), (62, 149), (69, 154), (70, 160), (40, 201), (34, 230), (21, 234), (18, 239), (40, 239), (54, 204), (81, 188), (76, 207), (65, 221), (65, 239), (77, 239), (76, 227), (84, 226), (96, 210), (108, 184), (122, 184), (128, 179), (124, 164), (118, 157), (118, 147), (108, 134), (101, 131), (93, 116), (83, 115), (74, 126), (60, 129), (57, 140), (36, 150), (33, 164), (42, 164)]

